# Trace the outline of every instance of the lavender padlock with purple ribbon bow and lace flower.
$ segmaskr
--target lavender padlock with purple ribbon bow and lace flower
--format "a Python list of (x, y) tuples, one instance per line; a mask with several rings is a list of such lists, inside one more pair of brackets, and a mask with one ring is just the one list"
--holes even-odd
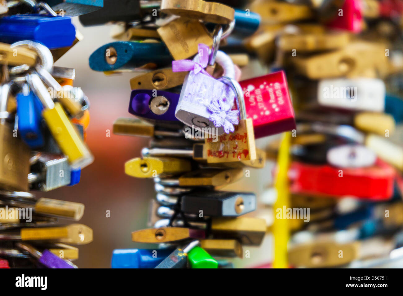
[[(234, 131), (239, 111), (231, 110), (235, 98), (232, 89), (204, 70), (208, 62), (209, 48), (205, 44), (199, 44), (199, 54), (193, 60), (172, 62), (173, 72), (189, 71), (183, 82), (175, 116), (195, 129), (222, 135)], [(235, 77), (234, 64), (224, 52), (217, 51), (216, 62), (224, 69), (223, 76)], [(210, 128), (217, 130), (210, 132)]]

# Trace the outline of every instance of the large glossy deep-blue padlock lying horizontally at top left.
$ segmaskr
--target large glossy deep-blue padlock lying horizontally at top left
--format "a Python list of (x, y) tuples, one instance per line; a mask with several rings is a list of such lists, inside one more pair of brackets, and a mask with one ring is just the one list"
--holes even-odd
[(33, 40), (52, 50), (71, 46), (75, 34), (71, 17), (15, 14), (0, 19), (0, 42), (4, 43)]

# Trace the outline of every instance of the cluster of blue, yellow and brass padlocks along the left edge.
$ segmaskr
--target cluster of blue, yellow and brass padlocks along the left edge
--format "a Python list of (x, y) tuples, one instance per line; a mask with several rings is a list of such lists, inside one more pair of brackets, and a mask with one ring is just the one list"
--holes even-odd
[(74, 69), (53, 65), (81, 38), (63, 8), (0, 1), (0, 268), (77, 268), (71, 245), (92, 241), (85, 225), (55, 225), (79, 221), (83, 204), (35, 197), (77, 184), (93, 161), (88, 99)]

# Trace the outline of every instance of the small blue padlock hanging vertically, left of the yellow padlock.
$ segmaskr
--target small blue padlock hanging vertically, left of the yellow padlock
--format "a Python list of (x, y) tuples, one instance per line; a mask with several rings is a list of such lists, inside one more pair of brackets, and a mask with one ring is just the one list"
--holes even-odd
[(21, 138), (31, 148), (44, 146), (42, 133), (42, 110), (38, 108), (39, 100), (32, 91), (27, 89), (16, 96), (18, 131)]

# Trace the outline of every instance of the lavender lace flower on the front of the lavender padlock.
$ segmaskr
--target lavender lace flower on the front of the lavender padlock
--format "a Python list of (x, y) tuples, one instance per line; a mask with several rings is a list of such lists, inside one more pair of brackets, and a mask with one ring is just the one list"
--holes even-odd
[(231, 104), (228, 100), (224, 99), (213, 99), (207, 109), (212, 112), (208, 118), (214, 123), (214, 126), (224, 128), (225, 133), (234, 132), (234, 124), (239, 124), (238, 110), (231, 110)]

